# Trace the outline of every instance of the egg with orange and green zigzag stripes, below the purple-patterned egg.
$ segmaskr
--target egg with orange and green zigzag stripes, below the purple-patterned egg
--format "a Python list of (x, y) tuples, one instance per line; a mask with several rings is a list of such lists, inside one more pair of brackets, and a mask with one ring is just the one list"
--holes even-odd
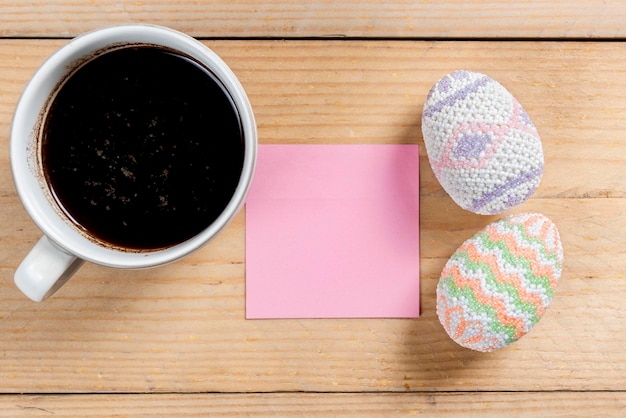
[(510, 215), (465, 241), (437, 285), (437, 316), (463, 347), (491, 352), (541, 319), (561, 276), (563, 247), (550, 219)]

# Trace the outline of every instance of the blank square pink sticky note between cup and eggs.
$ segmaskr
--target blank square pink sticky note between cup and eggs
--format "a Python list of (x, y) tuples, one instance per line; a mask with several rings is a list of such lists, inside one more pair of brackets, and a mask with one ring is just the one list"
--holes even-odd
[(261, 145), (247, 318), (419, 316), (419, 147)]

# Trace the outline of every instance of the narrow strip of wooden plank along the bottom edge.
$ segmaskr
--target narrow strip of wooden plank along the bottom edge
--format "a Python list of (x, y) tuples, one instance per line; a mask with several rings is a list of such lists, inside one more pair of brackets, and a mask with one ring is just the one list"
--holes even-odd
[[(515, 410), (515, 408), (520, 408)], [(515, 412), (513, 412), (515, 410)], [(624, 392), (4, 396), (0, 416), (622, 417)]]

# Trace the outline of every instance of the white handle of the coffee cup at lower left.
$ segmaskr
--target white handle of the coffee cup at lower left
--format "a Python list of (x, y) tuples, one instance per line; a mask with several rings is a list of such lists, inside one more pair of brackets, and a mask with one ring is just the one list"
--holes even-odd
[(59, 290), (83, 263), (44, 235), (15, 271), (15, 285), (30, 299), (41, 302)]

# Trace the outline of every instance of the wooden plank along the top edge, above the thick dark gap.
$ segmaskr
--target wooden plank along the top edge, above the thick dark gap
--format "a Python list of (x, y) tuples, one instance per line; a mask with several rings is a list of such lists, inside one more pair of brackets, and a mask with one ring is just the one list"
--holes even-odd
[[(0, 35), (68, 37), (131, 22), (197, 37), (623, 38), (612, 1), (5, 0)], [(36, 18), (35, 18), (36, 17)]]

